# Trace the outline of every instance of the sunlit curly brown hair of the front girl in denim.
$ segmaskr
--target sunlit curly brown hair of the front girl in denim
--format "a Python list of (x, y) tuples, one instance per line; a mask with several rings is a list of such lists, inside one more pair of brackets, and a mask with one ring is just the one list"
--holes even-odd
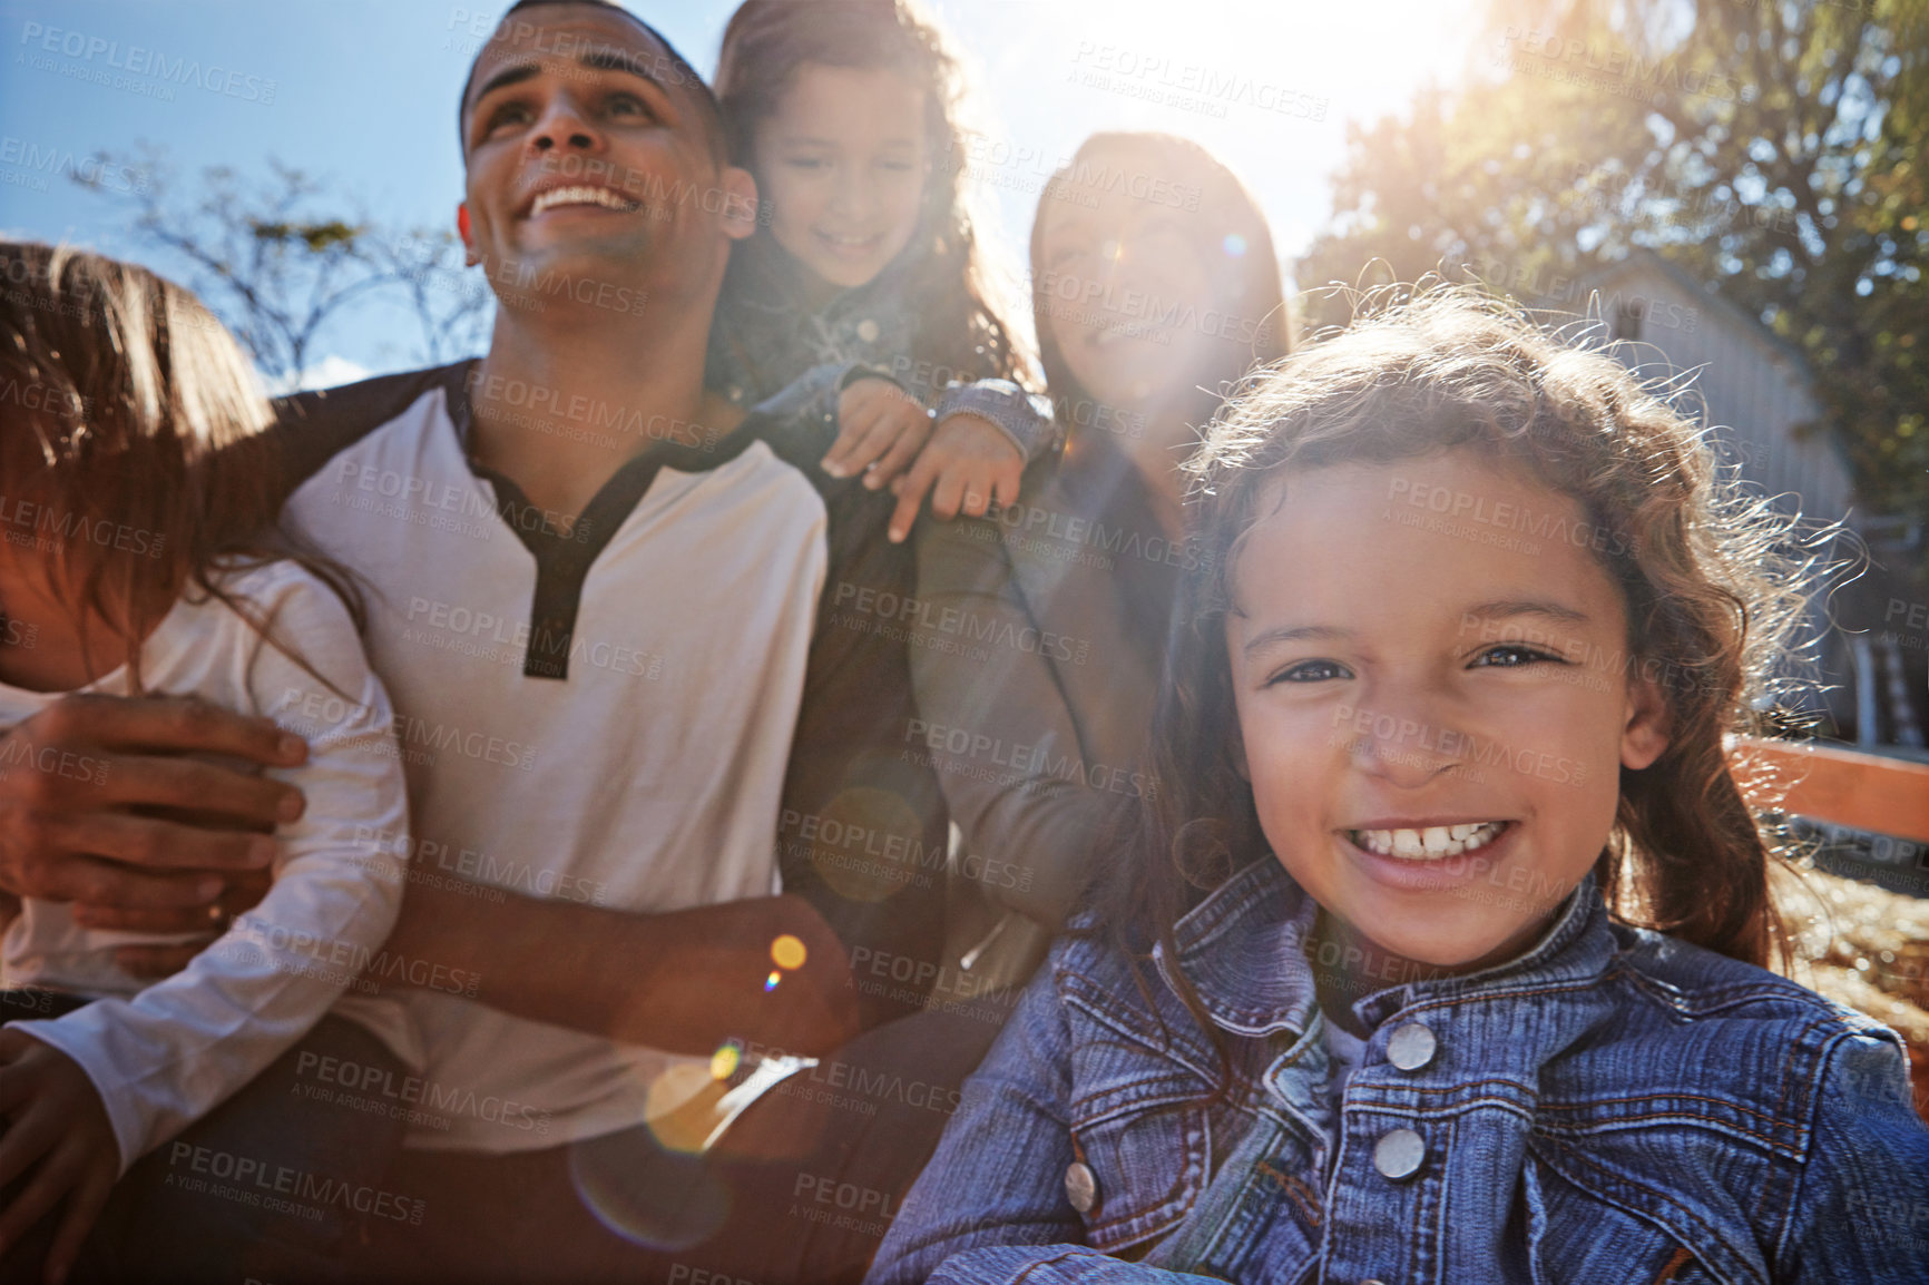
[[(1809, 569), (1786, 552), (1792, 519), (1740, 494), (1703, 428), (1601, 349), (1468, 289), (1368, 313), (1254, 374), (1186, 463), (1200, 569), (1181, 587), (1154, 729), (1167, 789), (1140, 810), (1125, 872), (1094, 891), (1098, 930), (1140, 957), (1155, 942), (1171, 951), (1173, 924), (1204, 891), (1273, 859), (1233, 758), (1225, 650), (1240, 542), (1269, 482), (1283, 469), (1478, 450), (1574, 498), (1603, 533), (1593, 548), (1626, 598), (1626, 654), (1667, 698), (1669, 749), (1622, 770), (1595, 864), (1609, 911), (1786, 965), (1769, 901), (1779, 837), (1746, 803), (1723, 739), (1759, 727), (1757, 698), (1790, 650)], [(1196, 996), (1182, 998), (1202, 1017)]]

